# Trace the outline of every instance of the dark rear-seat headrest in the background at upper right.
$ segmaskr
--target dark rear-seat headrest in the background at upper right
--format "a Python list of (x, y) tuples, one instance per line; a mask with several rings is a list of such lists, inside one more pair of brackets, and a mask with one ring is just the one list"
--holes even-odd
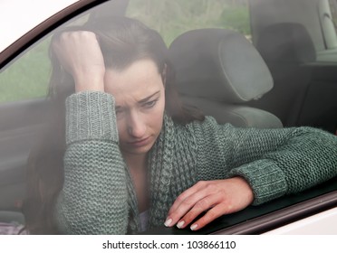
[(316, 60), (312, 38), (301, 23), (275, 23), (258, 36), (256, 48), (268, 64)]

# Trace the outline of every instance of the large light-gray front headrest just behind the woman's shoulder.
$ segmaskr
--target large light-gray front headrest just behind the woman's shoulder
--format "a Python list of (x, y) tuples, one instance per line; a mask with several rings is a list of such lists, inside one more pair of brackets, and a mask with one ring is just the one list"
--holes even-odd
[(240, 33), (200, 29), (183, 33), (169, 47), (178, 92), (243, 103), (273, 88), (265, 61)]

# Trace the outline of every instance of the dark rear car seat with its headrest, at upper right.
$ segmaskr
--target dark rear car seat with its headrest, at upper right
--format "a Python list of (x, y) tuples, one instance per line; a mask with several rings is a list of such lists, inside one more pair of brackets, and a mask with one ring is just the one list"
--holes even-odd
[(274, 23), (256, 34), (255, 46), (272, 73), (274, 89), (250, 105), (265, 108), (284, 126), (300, 126), (298, 119), (313, 74), (306, 63), (316, 60), (310, 34), (301, 23)]

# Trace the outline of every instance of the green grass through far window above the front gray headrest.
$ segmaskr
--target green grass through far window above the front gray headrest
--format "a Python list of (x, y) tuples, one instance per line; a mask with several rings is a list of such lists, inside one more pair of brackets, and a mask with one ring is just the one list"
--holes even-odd
[(250, 37), (248, 0), (135, 0), (127, 15), (159, 31), (168, 44), (197, 28), (227, 28)]

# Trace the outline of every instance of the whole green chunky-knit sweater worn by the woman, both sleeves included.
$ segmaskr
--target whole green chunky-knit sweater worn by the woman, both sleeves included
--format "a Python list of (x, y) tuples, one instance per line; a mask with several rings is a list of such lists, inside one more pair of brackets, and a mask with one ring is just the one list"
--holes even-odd
[[(114, 98), (80, 92), (66, 102), (64, 184), (56, 204), (67, 234), (140, 230), (130, 173), (120, 154)], [(178, 194), (197, 181), (243, 176), (254, 204), (322, 183), (337, 174), (337, 137), (321, 130), (237, 128), (212, 117), (181, 126), (164, 117), (149, 154), (149, 227), (162, 225)]]

